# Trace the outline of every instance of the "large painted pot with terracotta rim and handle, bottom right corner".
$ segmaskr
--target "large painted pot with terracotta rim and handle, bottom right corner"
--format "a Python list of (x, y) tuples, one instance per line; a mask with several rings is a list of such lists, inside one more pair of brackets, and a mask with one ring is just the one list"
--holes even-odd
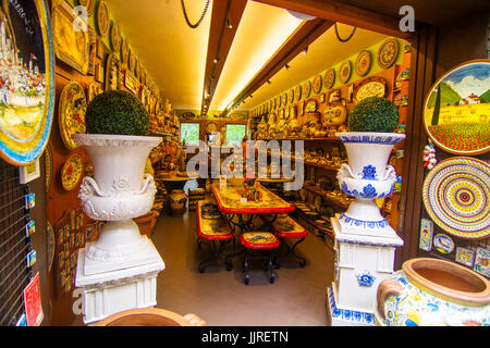
[(417, 258), (380, 283), (379, 325), (481, 326), (490, 324), (490, 283), (449, 261)]

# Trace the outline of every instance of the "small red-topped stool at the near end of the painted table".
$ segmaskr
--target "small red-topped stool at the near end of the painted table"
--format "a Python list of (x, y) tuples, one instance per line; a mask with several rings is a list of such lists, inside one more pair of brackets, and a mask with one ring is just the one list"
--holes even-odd
[(249, 250), (269, 250), (269, 260), (266, 261), (264, 270), (269, 274), (270, 283), (274, 283), (275, 270), (273, 261), (275, 249), (279, 247), (279, 239), (270, 232), (246, 232), (240, 235), (240, 241), (244, 247), (243, 268), (244, 282), (248, 284), (250, 275), (248, 274), (248, 253)]

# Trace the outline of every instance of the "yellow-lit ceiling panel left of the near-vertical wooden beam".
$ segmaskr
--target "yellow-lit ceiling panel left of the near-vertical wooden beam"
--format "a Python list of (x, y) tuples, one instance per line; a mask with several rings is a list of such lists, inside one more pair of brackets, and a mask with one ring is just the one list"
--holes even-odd
[[(196, 23), (206, 1), (184, 3), (191, 23)], [(181, 1), (108, 0), (108, 5), (161, 96), (174, 109), (200, 109), (212, 1), (195, 29), (185, 22)]]

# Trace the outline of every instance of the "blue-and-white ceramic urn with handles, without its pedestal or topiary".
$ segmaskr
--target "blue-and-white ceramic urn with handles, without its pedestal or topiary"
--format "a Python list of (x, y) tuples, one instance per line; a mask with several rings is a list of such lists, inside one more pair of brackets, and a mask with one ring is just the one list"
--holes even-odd
[[(405, 138), (397, 133), (335, 133), (345, 146), (348, 164), (338, 172), (342, 191), (355, 197), (339, 221), (360, 231), (382, 233), (389, 227), (381, 215), (376, 198), (389, 197), (396, 182), (396, 172), (388, 165), (393, 146)], [(352, 228), (351, 228), (352, 231)]]

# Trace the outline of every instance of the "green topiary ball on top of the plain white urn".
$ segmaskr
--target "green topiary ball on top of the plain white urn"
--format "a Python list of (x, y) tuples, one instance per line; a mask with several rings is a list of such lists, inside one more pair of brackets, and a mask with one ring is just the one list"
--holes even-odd
[(107, 90), (88, 104), (85, 113), (88, 134), (148, 135), (149, 114), (133, 94)]

